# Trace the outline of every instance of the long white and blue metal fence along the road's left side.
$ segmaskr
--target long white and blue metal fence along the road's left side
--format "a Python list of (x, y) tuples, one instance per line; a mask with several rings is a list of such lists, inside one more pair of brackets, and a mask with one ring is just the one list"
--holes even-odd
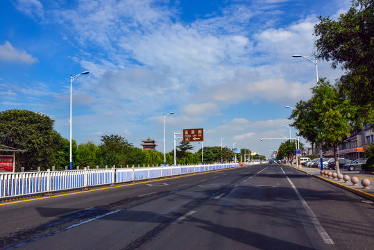
[(0, 198), (238, 167), (237, 163), (0, 174)]

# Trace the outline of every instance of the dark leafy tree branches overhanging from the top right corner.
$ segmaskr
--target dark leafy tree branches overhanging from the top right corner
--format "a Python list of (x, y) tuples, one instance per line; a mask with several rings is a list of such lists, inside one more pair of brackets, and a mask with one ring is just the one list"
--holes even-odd
[(339, 90), (364, 108), (362, 113), (374, 107), (373, 10), (373, 0), (353, 0), (337, 21), (320, 16), (314, 26), (317, 58), (331, 60), (333, 68), (340, 65), (346, 72), (337, 82)]

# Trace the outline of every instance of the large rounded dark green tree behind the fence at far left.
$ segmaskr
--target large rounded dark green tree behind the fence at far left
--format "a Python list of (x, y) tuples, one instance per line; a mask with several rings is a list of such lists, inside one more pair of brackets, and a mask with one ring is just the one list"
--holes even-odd
[(29, 110), (6, 110), (0, 113), (0, 144), (26, 150), (16, 157), (17, 169), (46, 169), (56, 160), (63, 146), (61, 135), (49, 116)]

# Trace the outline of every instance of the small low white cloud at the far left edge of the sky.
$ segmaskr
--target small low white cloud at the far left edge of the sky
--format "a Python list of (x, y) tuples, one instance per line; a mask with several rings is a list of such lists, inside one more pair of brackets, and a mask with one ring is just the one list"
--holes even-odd
[(19, 64), (33, 64), (38, 62), (37, 58), (33, 58), (33, 56), (22, 49), (12, 47), (12, 44), (8, 41), (0, 45), (0, 60), (7, 63)]

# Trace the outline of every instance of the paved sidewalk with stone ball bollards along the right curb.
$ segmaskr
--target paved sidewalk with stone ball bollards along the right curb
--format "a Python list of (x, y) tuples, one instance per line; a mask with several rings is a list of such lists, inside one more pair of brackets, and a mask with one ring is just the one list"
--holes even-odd
[[(291, 167), (289, 165), (285, 165), (287, 167)], [(344, 181), (338, 181), (338, 180), (334, 180), (332, 178), (329, 178), (327, 176), (322, 176), (321, 175), (321, 170), (320, 169), (316, 169), (314, 167), (304, 167), (304, 166), (301, 166), (300, 168), (297, 168), (297, 167), (294, 167), (292, 166), (294, 169), (298, 169), (302, 172), (305, 172), (306, 174), (309, 174), (309, 175), (312, 175), (316, 178), (319, 178), (323, 181), (327, 181), (329, 183), (332, 183), (334, 185), (337, 185), (339, 186), (340, 188), (344, 188), (346, 190), (349, 190), (350, 192), (354, 192), (355, 194), (358, 194), (362, 197), (365, 197), (366, 199), (370, 199), (371, 201), (374, 201), (374, 175), (373, 174), (362, 174), (362, 173), (359, 173), (358, 171), (355, 171), (354, 173), (348, 173), (348, 170), (343, 170), (341, 169), (341, 174), (345, 175), (345, 174), (348, 174), (351, 178), (353, 176), (356, 176), (357, 178), (359, 178), (359, 183), (357, 183), (357, 186), (354, 186), (352, 185), (352, 182), (349, 181), (349, 183), (345, 183)], [(327, 170), (327, 169), (325, 169)], [(328, 170), (330, 172), (335, 172), (335, 170)], [(369, 188), (370, 189), (364, 189), (361, 185), (361, 180), (363, 178), (367, 178), (369, 181), (370, 181), (370, 185), (369, 185)]]

